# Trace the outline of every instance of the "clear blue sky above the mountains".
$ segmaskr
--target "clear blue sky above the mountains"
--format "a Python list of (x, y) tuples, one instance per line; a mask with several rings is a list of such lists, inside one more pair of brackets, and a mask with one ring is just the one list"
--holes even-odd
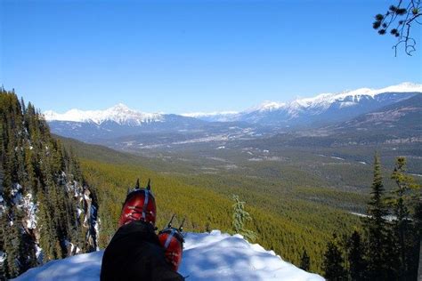
[(391, 1), (0, 0), (0, 84), (42, 110), (242, 110), (422, 83), (373, 16)]

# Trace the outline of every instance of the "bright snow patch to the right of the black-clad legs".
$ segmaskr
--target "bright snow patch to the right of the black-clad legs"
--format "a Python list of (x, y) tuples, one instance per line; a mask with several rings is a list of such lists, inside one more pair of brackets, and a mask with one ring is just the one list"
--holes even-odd
[(181, 274), (191, 280), (323, 280), (240, 235), (188, 233)]

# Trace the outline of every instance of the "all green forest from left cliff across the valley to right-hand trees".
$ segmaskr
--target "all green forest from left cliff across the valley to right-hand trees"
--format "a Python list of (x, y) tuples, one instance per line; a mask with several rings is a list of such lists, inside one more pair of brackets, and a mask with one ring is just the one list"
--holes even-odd
[[(404, 268), (408, 277), (414, 276), (420, 185), (406, 173), (406, 159), (398, 159), (395, 168), (381, 168), (376, 157), (372, 189), (372, 175), (365, 173), (362, 180), (369, 182), (362, 188), (367, 192), (330, 188), (321, 177), (293, 166), (248, 164), (262, 177), (193, 173), (183, 162), (162, 162), (53, 135), (35, 106), (26, 105), (13, 91), (2, 89), (0, 108), (4, 278), (46, 261), (104, 249), (118, 229), (126, 192), (137, 179), (144, 185), (151, 180), (158, 229), (176, 214), (186, 218), (185, 231), (235, 233), (231, 218), (236, 195), (252, 218), (246, 228), (256, 239), (250, 242), (297, 267), (333, 280), (363, 280), (385, 269), (386, 264), (377, 264), (394, 255), (398, 260), (385, 278), (402, 277)], [(336, 169), (361, 182), (356, 180), (360, 170)], [(385, 189), (377, 189), (382, 176), (389, 181)], [(353, 213), (366, 211), (369, 216)], [(400, 221), (388, 221), (387, 215)], [(380, 247), (385, 249), (382, 256), (373, 257), (371, 251)], [(358, 276), (356, 270), (365, 274)]]

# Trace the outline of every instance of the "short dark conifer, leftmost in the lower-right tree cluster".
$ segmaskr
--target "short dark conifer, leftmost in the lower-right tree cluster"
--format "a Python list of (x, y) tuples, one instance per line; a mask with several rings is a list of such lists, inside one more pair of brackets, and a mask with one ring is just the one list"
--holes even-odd
[(347, 274), (344, 267), (345, 260), (337, 246), (337, 235), (333, 235), (333, 240), (327, 244), (327, 251), (324, 253), (322, 270), (327, 280), (347, 280)]

